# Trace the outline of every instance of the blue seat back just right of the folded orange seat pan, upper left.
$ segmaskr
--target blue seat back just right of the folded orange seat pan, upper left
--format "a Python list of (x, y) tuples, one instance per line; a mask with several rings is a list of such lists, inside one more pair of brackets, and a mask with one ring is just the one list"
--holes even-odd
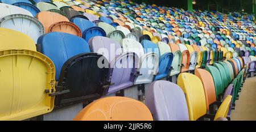
[(75, 23), (81, 30), (81, 32), (84, 32), (86, 29), (95, 27), (96, 24), (93, 22), (90, 22), (89, 20), (86, 20), (84, 18), (73, 18), (71, 19), (72, 23)]

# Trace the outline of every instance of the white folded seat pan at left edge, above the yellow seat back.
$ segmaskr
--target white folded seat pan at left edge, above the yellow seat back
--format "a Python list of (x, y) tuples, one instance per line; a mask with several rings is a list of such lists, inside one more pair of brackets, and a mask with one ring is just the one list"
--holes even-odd
[(44, 34), (43, 24), (40, 23), (38, 19), (22, 14), (8, 15), (1, 18), (0, 27), (25, 33), (30, 36), (35, 43), (38, 37)]

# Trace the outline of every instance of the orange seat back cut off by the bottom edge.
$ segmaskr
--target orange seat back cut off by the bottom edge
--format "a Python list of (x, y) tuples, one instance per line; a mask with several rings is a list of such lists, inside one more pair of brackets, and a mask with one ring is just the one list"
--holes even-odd
[[(106, 107), (108, 106), (108, 107)], [(138, 100), (104, 97), (93, 101), (77, 114), (74, 121), (152, 121), (150, 110)]]

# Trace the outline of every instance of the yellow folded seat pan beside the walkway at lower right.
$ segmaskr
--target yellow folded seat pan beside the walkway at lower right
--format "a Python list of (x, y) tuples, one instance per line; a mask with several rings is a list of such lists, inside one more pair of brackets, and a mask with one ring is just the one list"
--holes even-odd
[(232, 96), (228, 95), (226, 96), (225, 100), (222, 101), (220, 108), (218, 108), (218, 111), (214, 117), (214, 121), (217, 120), (217, 118), (226, 118), (228, 112), (229, 112), (229, 105), (232, 100)]

